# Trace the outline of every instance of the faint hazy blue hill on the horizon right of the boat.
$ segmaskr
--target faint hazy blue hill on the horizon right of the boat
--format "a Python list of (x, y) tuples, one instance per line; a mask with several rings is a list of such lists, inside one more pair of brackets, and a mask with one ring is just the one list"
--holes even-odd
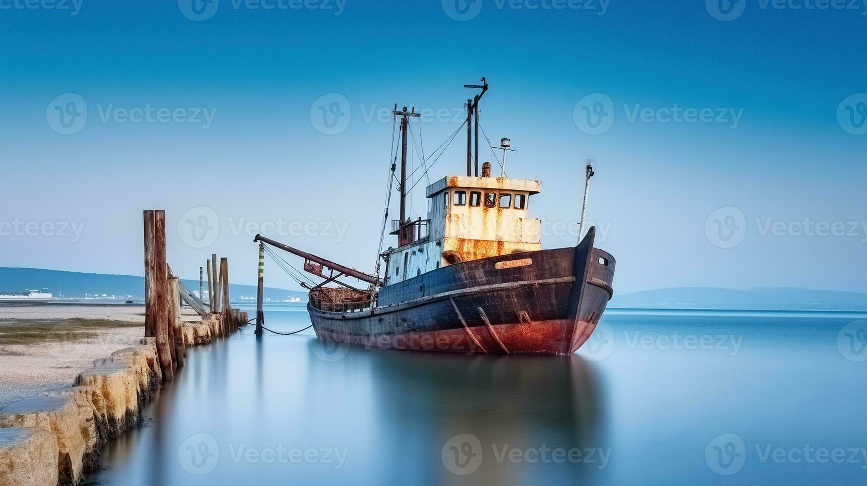
[(867, 294), (793, 287), (681, 287), (615, 295), (609, 308), (867, 311)]

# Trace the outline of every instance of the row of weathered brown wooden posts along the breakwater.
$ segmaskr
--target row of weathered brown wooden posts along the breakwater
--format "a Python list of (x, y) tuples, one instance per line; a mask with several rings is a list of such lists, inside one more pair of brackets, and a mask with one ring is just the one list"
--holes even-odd
[[(199, 267), (199, 295), (189, 291), (173, 275), (166, 261), (166, 212), (161, 209), (144, 212), (145, 236), (145, 337), (156, 338), (157, 355), (163, 379), (174, 379), (174, 372), (184, 365), (186, 345), (180, 302), (189, 304), (203, 318), (215, 323), (215, 337), (228, 335), (238, 325), (239, 312), (232, 309), (229, 298), (229, 260), (217, 255), (207, 260), (208, 303), (202, 291), (202, 267)], [(214, 315), (217, 314), (217, 315)]]

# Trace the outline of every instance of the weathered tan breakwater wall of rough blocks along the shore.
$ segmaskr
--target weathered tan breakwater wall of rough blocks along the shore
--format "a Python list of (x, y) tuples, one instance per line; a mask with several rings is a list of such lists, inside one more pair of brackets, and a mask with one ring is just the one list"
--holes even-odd
[[(239, 312), (240, 324), (248, 319)], [(184, 323), (185, 347), (225, 332), (225, 317)], [(224, 332), (221, 332), (223, 330)], [(140, 424), (163, 384), (155, 338), (114, 351), (81, 371), (73, 386), (47, 391), (0, 410), (0, 486), (75, 485), (100, 466), (108, 441)]]

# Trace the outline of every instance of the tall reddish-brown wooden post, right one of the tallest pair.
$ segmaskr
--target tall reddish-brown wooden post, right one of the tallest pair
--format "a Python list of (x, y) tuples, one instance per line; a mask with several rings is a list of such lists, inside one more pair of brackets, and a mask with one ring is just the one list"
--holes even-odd
[(166, 212), (159, 209), (153, 212), (153, 319), (154, 335), (157, 341), (157, 356), (163, 379), (174, 379), (172, 361), (173, 345), (169, 345), (168, 309), (168, 266), (166, 265)]

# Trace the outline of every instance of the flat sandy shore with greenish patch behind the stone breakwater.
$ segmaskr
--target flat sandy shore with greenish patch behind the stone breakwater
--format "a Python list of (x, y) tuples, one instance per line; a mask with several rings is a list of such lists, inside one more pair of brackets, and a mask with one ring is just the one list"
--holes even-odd
[[(71, 387), (95, 359), (137, 345), (144, 305), (0, 306), (0, 409)], [(184, 320), (199, 316), (183, 309)]]

